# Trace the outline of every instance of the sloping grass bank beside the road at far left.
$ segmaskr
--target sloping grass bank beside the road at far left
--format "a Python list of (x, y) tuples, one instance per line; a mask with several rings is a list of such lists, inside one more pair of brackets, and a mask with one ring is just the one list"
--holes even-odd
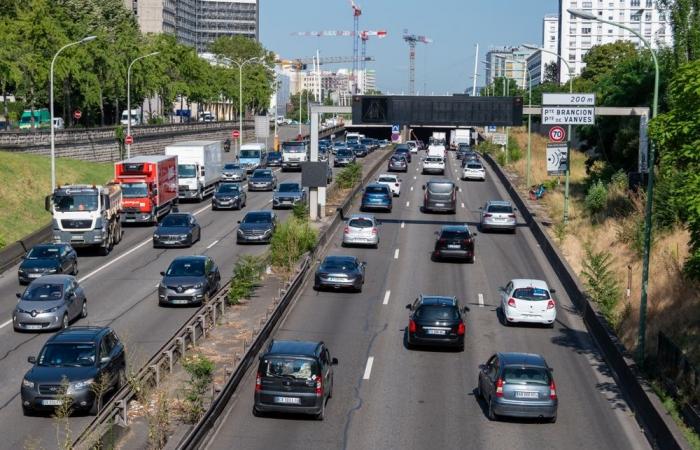
[[(56, 159), (56, 182), (103, 184), (114, 176), (112, 163)], [(0, 151), (0, 246), (15, 242), (51, 220), (44, 210), (50, 193), (51, 160), (46, 156)]]

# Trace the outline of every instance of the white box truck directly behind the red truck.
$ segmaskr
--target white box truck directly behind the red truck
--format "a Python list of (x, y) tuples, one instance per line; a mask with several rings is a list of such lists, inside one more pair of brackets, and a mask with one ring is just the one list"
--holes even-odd
[(178, 198), (202, 201), (221, 180), (221, 141), (184, 141), (165, 147), (165, 154), (177, 156)]

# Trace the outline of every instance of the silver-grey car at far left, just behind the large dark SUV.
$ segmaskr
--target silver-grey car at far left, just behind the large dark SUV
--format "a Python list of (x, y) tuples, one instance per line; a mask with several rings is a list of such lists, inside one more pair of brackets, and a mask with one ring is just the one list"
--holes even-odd
[(15, 331), (56, 330), (87, 317), (85, 291), (73, 275), (44, 275), (17, 298), (12, 313)]

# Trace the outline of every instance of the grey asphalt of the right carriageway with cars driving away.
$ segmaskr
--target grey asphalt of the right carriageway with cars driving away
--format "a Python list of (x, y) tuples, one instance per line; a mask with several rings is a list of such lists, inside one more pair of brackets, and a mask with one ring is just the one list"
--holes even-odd
[[(456, 179), (453, 158), (448, 176)], [(475, 227), (479, 206), (507, 197), (487, 168), (486, 182), (459, 181), (456, 215), (424, 214), (421, 186), (428, 177), (417, 171), (417, 160), (402, 175), (393, 212), (377, 214), (383, 221), (379, 249), (342, 248), (342, 228), (329, 245), (329, 254), (357, 255), (367, 262), (362, 293), (316, 292), (309, 277), (273, 336), (323, 340), (339, 359), (325, 420), (254, 417), (253, 366), (208, 448), (650, 448), (522, 218), (515, 235), (479, 233), (473, 265), (431, 262), (434, 232), (441, 224)], [(516, 277), (541, 278), (557, 290), (554, 328), (499, 323), (498, 288)], [(419, 293), (456, 295), (470, 306), (464, 352), (404, 347), (405, 305)], [(474, 390), (478, 365), (496, 351), (534, 352), (547, 359), (559, 397), (555, 424), (488, 420)]]

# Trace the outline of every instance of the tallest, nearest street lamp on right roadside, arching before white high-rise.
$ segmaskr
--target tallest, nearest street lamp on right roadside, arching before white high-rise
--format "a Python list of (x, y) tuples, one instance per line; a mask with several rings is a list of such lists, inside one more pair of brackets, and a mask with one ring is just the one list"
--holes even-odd
[[(593, 14), (578, 9), (568, 9), (569, 14), (587, 20), (597, 20), (598, 22), (607, 23), (623, 30), (627, 30), (639, 38), (642, 43), (651, 52), (651, 57), (654, 60), (654, 99), (652, 100), (651, 117), (656, 117), (659, 110), (659, 61), (656, 59), (656, 53), (651, 47), (649, 41), (644, 39), (642, 35), (635, 29), (627, 27), (617, 22), (601, 19)], [(644, 208), (644, 255), (642, 258), (642, 293), (639, 301), (639, 335), (637, 340), (637, 360), (640, 364), (644, 363), (644, 347), (646, 342), (646, 320), (647, 320), (647, 289), (649, 287), (649, 258), (651, 253), (651, 212), (654, 204), (654, 141), (649, 143), (649, 158), (647, 169), (649, 171), (649, 179), (647, 181), (647, 202)]]

